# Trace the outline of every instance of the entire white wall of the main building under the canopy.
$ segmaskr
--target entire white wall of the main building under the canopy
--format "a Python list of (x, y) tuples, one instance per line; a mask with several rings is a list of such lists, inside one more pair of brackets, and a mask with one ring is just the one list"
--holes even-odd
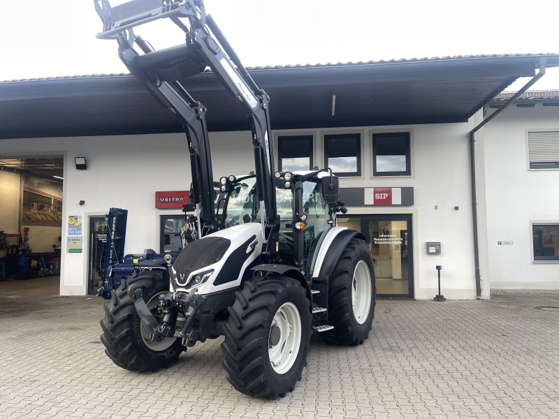
[[(342, 187), (413, 186), (412, 207), (354, 207), (350, 214), (412, 214), (414, 228), (414, 288), (416, 298), (437, 293), (435, 265), (443, 265), (443, 293), (449, 298), (475, 298), (470, 210), (470, 175), (467, 133), (463, 124), (347, 128), (337, 130), (278, 131), (313, 133), (314, 161), (324, 161), (323, 135), (360, 132), (361, 177), (342, 178)], [(373, 132), (411, 131), (412, 176), (372, 179)], [(254, 170), (249, 132), (211, 133), (214, 178)], [(61, 294), (83, 295), (87, 291), (88, 217), (106, 214), (109, 207), (129, 210), (126, 253), (158, 248), (159, 215), (180, 214), (156, 210), (155, 191), (187, 190), (190, 185), (189, 156), (184, 134), (131, 135), (89, 138), (41, 138), (2, 140), (4, 152), (60, 154), (64, 152), (64, 214), (62, 231)], [(75, 156), (85, 156), (87, 170), (76, 170)], [(277, 152), (276, 152), (277, 156)], [(79, 205), (85, 200), (85, 205)], [(437, 210), (435, 210), (437, 205)], [(458, 206), (459, 210), (454, 210)], [(84, 253), (66, 253), (69, 215), (84, 222)], [(440, 256), (428, 256), (425, 242), (442, 242)]]

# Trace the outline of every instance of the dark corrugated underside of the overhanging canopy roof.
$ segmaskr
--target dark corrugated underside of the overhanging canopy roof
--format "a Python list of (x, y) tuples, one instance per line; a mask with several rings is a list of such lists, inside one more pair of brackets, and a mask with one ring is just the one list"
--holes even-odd
[[(464, 122), (514, 82), (559, 55), (254, 69), (270, 95), (273, 129)], [(235, 98), (212, 73), (184, 82), (208, 112), (210, 131), (249, 129)], [(335, 115), (332, 97), (335, 95)], [(0, 83), (0, 138), (183, 131), (131, 76)]]

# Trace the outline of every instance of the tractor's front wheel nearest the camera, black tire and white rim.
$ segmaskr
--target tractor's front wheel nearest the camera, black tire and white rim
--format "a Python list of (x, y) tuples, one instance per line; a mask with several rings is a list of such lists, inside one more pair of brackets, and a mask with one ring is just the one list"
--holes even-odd
[(307, 365), (312, 316), (305, 289), (290, 277), (247, 281), (235, 293), (222, 344), (228, 381), (253, 397), (293, 391)]

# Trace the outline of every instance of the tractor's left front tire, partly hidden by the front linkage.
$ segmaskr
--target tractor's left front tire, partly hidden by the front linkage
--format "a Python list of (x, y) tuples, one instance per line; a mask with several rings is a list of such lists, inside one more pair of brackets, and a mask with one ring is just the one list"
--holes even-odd
[(156, 314), (158, 295), (169, 290), (169, 277), (162, 270), (140, 272), (128, 281), (122, 281), (112, 292), (110, 302), (105, 304), (105, 318), (101, 320), (105, 353), (116, 365), (130, 371), (166, 368), (179, 358), (184, 346), (179, 338), (174, 337), (150, 341), (149, 332), (126, 292), (132, 284), (143, 289), (147, 307)]

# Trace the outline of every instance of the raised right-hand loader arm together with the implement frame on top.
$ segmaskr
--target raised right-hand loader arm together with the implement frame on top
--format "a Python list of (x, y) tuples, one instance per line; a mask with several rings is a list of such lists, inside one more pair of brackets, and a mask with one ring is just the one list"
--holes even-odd
[[(206, 15), (203, 0), (131, 0), (113, 8), (108, 0), (94, 1), (103, 20), (99, 38), (125, 39), (124, 34), (131, 34), (133, 27), (164, 17), (184, 31), (186, 45), (159, 51), (143, 48), (144, 54), (133, 59), (139, 66), (157, 68), (159, 78), (173, 75), (173, 80), (191, 77), (202, 71), (200, 67), (210, 66), (226, 90), (239, 99), (250, 121), (257, 193), (266, 211), (266, 233), (273, 231), (278, 221), (269, 97), (242, 66), (212, 17)], [(188, 20), (188, 25), (180, 18)]]

